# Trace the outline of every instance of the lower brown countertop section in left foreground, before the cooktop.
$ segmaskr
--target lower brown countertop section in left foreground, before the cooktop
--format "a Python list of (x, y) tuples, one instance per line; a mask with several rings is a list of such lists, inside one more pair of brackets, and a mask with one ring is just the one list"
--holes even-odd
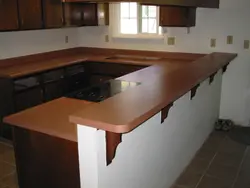
[(62, 97), (6, 117), (4, 121), (24, 129), (77, 142), (77, 127), (69, 122), (69, 115), (87, 108), (90, 104), (92, 103), (88, 101)]

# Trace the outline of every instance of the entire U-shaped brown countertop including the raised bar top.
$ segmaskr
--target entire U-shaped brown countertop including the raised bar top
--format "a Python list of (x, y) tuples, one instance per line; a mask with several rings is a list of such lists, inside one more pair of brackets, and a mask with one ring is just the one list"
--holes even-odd
[[(119, 58), (108, 58), (117, 54)], [(126, 59), (120, 54), (131, 54), (133, 58)], [(138, 55), (161, 58), (140, 60), (135, 57)], [(57, 55), (47, 55), (45, 59), (31, 56), (32, 58), (24, 58), (20, 64), (16, 63), (16, 59), (7, 60), (4, 61), (6, 66), (2, 66), (2, 68), (0, 61), (0, 75), (10, 78), (84, 61), (149, 65), (147, 68), (117, 78), (141, 82), (141, 85), (100, 103), (89, 104), (85, 101), (60, 98), (11, 115), (4, 121), (74, 141), (76, 141), (75, 124), (109, 132), (127, 133), (190, 91), (198, 83), (228, 65), (236, 56), (237, 54), (229, 53), (204, 55), (81, 48), (70, 53), (58, 52)], [(34, 59), (37, 61), (34, 62)], [(61, 109), (60, 113), (57, 112), (58, 109)], [(61, 121), (60, 118), (62, 118)], [(69, 119), (71, 123), (69, 123)], [(60, 124), (64, 126), (60, 127)]]

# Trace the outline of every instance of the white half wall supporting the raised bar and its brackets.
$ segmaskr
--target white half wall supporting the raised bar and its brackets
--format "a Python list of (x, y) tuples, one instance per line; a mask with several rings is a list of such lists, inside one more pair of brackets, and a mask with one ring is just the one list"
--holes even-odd
[(219, 116), (221, 72), (190, 100), (178, 99), (161, 124), (161, 113), (123, 134), (113, 162), (106, 166), (105, 133), (78, 125), (83, 188), (170, 188), (189, 164)]

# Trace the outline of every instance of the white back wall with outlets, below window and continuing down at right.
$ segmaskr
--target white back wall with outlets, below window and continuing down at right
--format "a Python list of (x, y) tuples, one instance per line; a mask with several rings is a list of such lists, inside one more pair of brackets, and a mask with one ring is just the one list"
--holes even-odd
[[(79, 45), (140, 50), (180, 51), (210, 53), (235, 52), (239, 57), (231, 63), (223, 79), (221, 117), (248, 125), (250, 121), (250, 53), (243, 49), (245, 39), (250, 39), (250, 1), (220, 0), (220, 9), (198, 9), (196, 27), (188, 34), (186, 28), (167, 28), (167, 36), (176, 37), (176, 45), (168, 46), (164, 40), (110, 39), (108, 27), (80, 28)], [(227, 45), (226, 37), (234, 36), (234, 44)], [(210, 48), (210, 39), (217, 39), (216, 48)]]

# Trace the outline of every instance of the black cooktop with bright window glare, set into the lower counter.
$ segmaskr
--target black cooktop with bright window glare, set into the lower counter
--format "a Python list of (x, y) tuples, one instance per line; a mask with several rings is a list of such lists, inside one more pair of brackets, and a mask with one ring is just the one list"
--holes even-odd
[(127, 90), (128, 88), (136, 87), (140, 84), (141, 83), (138, 82), (109, 80), (98, 85), (90, 86), (89, 88), (77, 90), (66, 95), (66, 97), (92, 102), (101, 102)]

